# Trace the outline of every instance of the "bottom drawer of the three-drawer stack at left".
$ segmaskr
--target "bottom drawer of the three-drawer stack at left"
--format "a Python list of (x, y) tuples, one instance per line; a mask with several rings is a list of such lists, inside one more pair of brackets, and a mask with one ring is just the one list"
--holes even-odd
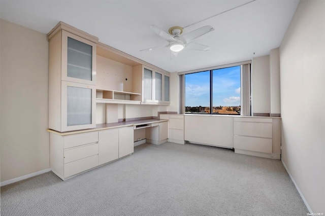
[(98, 166), (98, 155), (64, 164), (64, 177), (69, 177), (96, 166)]

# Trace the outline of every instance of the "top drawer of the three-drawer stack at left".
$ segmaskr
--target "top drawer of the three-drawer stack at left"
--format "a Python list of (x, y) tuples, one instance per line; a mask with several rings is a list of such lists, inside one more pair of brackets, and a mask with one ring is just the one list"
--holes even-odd
[(98, 132), (80, 133), (64, 136), (64, 149), (98, 142)]

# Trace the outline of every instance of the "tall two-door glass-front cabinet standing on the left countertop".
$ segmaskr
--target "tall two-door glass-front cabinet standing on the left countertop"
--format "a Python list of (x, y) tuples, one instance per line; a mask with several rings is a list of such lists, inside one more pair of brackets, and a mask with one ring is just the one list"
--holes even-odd
[(65, 132), (95, 127), (96, 43), (59, 22), (49, 41), (49, 128)]

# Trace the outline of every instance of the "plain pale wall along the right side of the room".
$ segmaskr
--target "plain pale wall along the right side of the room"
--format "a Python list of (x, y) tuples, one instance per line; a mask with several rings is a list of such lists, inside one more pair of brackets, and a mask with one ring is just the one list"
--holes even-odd
[(282, 161), (314, 213), (325, 213), (324, 21), (325, 1), (301, 1), (280, 46)]

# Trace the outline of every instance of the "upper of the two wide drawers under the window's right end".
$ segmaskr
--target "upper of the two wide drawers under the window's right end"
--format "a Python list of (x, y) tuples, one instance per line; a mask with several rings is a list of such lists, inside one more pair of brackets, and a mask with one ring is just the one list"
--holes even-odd
[(234, 135), (272, 138), (272, 123), (234, 122)]

